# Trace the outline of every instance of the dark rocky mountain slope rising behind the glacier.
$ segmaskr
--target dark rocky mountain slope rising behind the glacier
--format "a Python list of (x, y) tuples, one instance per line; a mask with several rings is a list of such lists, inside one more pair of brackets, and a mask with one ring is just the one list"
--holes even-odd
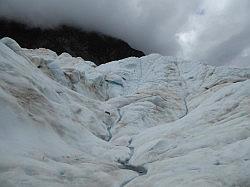
[(70, 26), (40, 29), (0, 19), (0, 38), (3, 37), (11, 37), (25, 48), (47, 48), (59, 55), (67, 52), (97, 65), (131, 56), (144, 56), (143, 52), (131, 48), (122, 40)]

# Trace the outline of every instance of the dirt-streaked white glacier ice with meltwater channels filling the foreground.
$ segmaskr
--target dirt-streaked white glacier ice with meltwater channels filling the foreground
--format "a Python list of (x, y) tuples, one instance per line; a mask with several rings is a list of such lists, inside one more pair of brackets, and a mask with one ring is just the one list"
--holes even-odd
[(0, 80), (1, 186), (250, 186), (250, 69), (3, 38)]

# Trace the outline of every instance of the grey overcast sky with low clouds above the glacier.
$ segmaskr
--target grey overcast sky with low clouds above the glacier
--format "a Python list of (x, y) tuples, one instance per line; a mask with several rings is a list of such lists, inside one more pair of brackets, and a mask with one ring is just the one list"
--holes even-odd
[(0, 0), (0, 16), (76, 25), (146, 53), (250, 66), (249, 0)]

